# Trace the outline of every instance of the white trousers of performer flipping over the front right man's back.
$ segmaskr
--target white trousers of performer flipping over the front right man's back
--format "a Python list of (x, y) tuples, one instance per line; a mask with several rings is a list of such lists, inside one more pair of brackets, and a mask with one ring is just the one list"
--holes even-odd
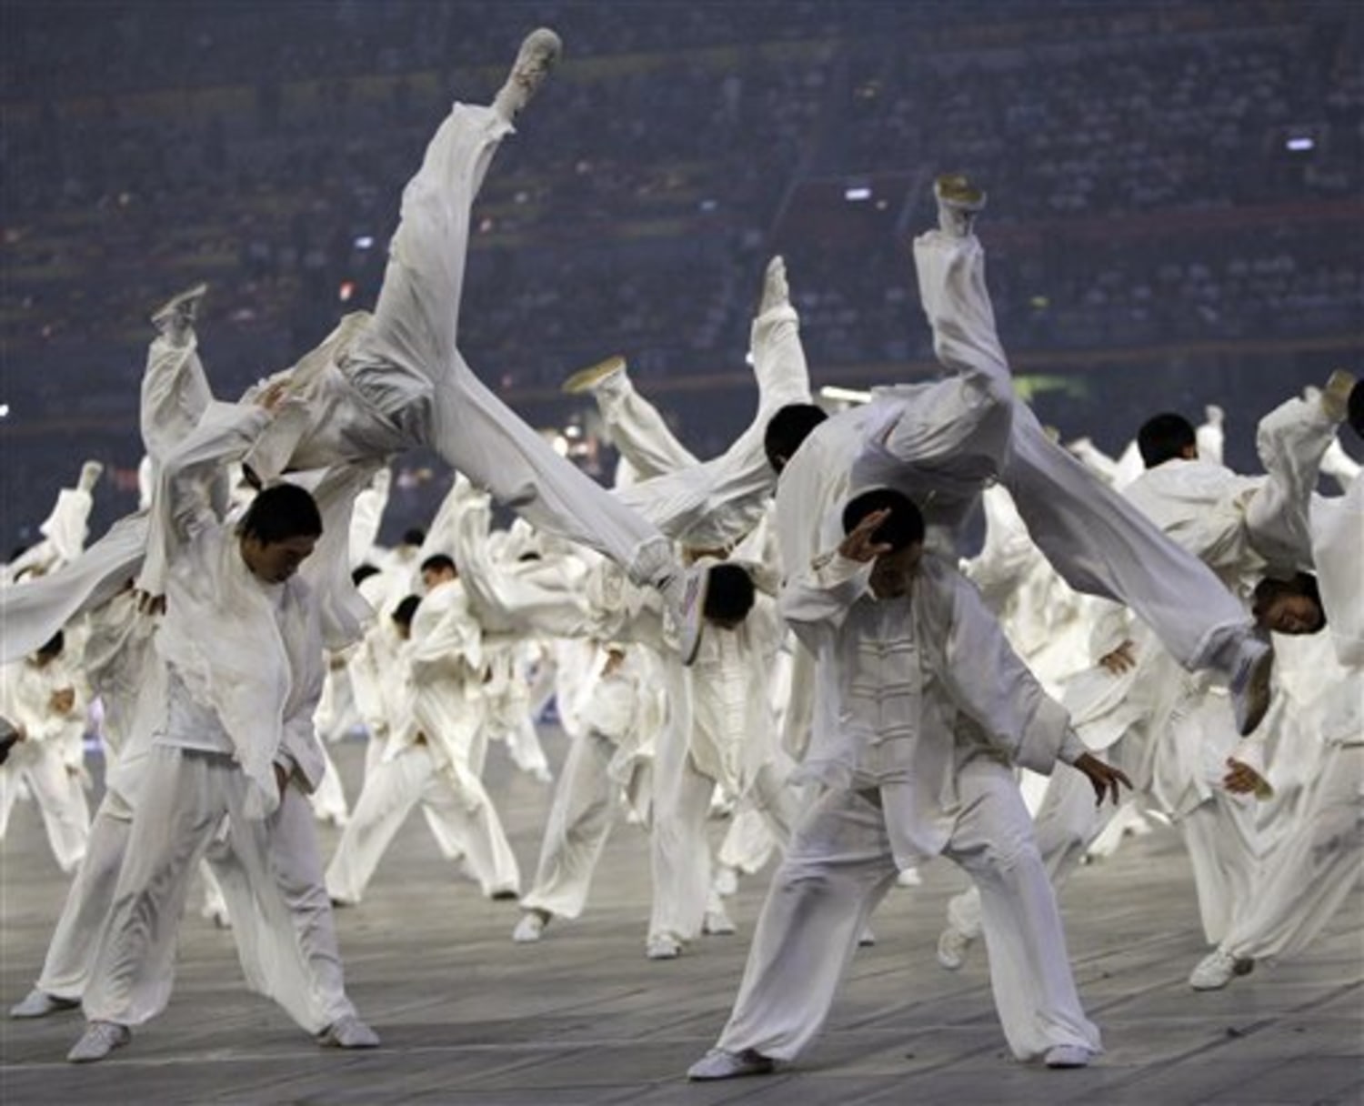
[[(933, 230), (915, 239), (914, 260), (934, 350), (959, 374), (941, 387), (959, 380), (970, 393), (960, 406), (971, 440), (952, 445), (944, 460), (977, 453), (975, 461), (993, 460), (1028, 535), (1067, 584), (1125, 603), (1185, 668), (1230, 671), (1248, 633), (1240, 601), (1211, 569), (1053, 442), (1013, 394), (979, 241)], [(992, 408), (1008, 409), (1003, 436)], [(932, 409), (922, 417), (911, 410), (895, 438), (888, 445), (898, 460), (918, 464), (923, 450), (930, 457), (941, 451), (943, 420)]]

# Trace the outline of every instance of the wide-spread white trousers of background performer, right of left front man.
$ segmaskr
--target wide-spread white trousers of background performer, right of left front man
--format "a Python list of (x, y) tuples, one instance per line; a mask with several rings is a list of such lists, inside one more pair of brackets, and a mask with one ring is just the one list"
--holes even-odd
[[(481, 765), (481, 756), (477, 762)], [(359, 903), (364, 897), (379, 861), (417, 803), (441, 851), (450, 859), (464, 856), (484, 895), (520, 886), (516, 854), (477, 773), (436, 771), (431, 750), (411, 745), (366, 772), (364, 788), (327, 866), (333, 899)]]

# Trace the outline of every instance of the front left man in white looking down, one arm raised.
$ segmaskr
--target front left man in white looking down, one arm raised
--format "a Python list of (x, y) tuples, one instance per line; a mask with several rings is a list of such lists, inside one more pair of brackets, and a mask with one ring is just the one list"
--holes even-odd
[(217, 440), (191, 436), (162, 473), (168, 517), (158, 532), (173, 544), (161, 556), (169, 576), (157, 648), (169, 666), (169, 701), (85, 991), (89, 1024), (68, 1056), (76, 1062), (125, 1045), (130, 1026), (165, 1006), (190, 874), (224, 816), (261, 912), (258, 926), (239, 933), (252, 941), (252, 986), (322, 1043), (378, 1043), (345, 997), (304, 801), (321, 769), (312, 712), (322, 637), (318, 604), (293, 577), (321, 517), (307, 492), (280, 485), (262, 492), (233, 532), (205, 495), (202, 458), (216, 470), (267, 419), (263, 409), (236, 409)]

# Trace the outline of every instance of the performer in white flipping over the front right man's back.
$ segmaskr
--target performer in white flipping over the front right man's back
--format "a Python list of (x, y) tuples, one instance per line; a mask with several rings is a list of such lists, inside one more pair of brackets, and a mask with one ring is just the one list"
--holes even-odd
[(971, 230), (983, 194), (962, 177), (941, 177), (936, 191), (943, 226), (915, 239), (914, 259), (934, 350), (953, 375), (878, 389), (822, 425), (817, 409), (777, 412), (767, 446), (782, 472), (787, 571), (818, 551), (818, 526), (848, 488), (900, 488), (925, 505), (929, 545), (951, 550), (981, 487), (998, 479), (1067, 584), (1132, 607), (1183, 666), (1229, 675), (1239, 728), (1249, 732), (1269, 706), (1273, 652), (1202, 562), (1057, 446), (1018, 400)]

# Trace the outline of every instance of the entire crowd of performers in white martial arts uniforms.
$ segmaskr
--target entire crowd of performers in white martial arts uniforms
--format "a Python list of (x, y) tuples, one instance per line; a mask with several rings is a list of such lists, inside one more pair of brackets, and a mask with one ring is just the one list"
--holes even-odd
[[(15, 1019), (80, 1008), (97, 1061), (160, 1013), (196, 882), (247, 985), (322, 1045), (374, 1047), (333, 912), (363, 901), (421, 806), (517, 942), (585, 906), (612, 824), (649, 837), (651, 959), (732, 933), (724, 899), (776, 866), (716, 1047), (692, 1079), (772, 1071), (817, 1035), (870, 919), (943, 855), (970, 877), (938, 961), (983, 936), (1015, 1057), (1101, 1053), (1057, 891), (1125, 825), (1173, 822), (1209, 952), (1195, 989), (1299, 952), (1359, 874), (1364, 826), (1364, 387), (1337, 372), (1262, 419), (1263, 472), (1221, 462), (1215, 409), (1148, 412), (1118, 460), (1018, 400), (975, 221), (934, 183), (913, 244), (943, 374), (814, 404), (786, 267), (752, 326), (757, 409), (700, 460), (615, 357), (569, 379), (621, 454), (595, 483), (457, 346), (469, 209), (559, 56), (532, 33), (491, 106), (456, 104), (402, 196), (378, 304), (235, 402), (195, 329), (154, 325), (143, 503), (85, 547), (100, 466), (5, 567), (0, 835), (22, 791), (72, 874)], [(454, 470), (436, 517), (376, 544), (389, 465)], [(1322, 494), (1334, 481), (1341, 494)], [(492, 500), (517, 515), (492, 528)], [(983, 506), (979, 554), (962, 529)], [(483, 783), (488, 743), (544, 783), (527, 880)], [(83, 735), (106, 773), (93, 820)], [(348, 803), (327, 742), (361, 730)], [(712, 851), (708, 820), (732, 809)], [(341, 826), (327, 861), (315, 821)], [(35, 966), (37, 967), (37, 966)]]

